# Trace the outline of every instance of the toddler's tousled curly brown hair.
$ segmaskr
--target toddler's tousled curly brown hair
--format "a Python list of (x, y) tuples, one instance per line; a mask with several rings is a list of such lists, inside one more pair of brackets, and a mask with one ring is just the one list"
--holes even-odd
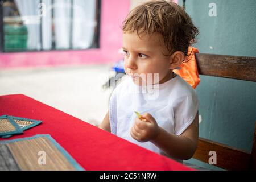
[(174, 2), (150, 1), (135, 7), (127, 15), (123, 32), (137, 31), (138, 36), (159, 33), (170, 52), (181, 51), (188, 56), (188, 47), (195, 43), (199, 30), (194, 26), (185, 10)]

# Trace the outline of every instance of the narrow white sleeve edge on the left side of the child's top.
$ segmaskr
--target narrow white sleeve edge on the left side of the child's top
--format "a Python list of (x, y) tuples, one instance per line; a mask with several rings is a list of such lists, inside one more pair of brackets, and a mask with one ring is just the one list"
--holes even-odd
[(109, 124), (111, 133), (117, 134), (117, 94), (116, 89), (112, 92), (109, 101)]

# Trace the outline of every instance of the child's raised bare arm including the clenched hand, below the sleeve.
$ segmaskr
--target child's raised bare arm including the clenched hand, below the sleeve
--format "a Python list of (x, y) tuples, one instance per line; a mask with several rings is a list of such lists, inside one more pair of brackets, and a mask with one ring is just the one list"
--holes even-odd
[(139, 142), (150, 141), (166, 154), (187, 160), (192, 158), (197, 148), (198, 140), (198, 112), (191, 125), (181, 134), (174, 135), (159, 127), (151, 114), (145, 113), (142, 119), (135, 118), (134, 126), (130, 130), (131, 137)]

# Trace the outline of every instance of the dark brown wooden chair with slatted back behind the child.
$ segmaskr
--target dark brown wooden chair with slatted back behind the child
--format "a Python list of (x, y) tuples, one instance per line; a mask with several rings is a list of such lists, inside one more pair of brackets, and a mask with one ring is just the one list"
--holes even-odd
[[(200, 75), (233, 78), (256, 82), (256, 57), (211, 55), (197, 53), (197, 67)], [(210, 63), (210, 64), (209, 64)], [(228, 170), (256, 169), (256, 124), (253, 147), (250, 153), (199, 138), (194, 159), (208, 163), (209, 151), (216, 151), (217, 164), (214, 166)]]

